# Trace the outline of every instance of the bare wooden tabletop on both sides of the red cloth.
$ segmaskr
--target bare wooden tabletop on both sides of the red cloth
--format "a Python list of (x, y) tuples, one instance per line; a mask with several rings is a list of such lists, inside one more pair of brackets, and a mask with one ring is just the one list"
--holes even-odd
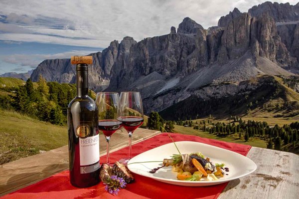
[[(159, 131), (138, 129), (133, 144), (159, 134)], [(100, 139), (105, 139), (104, 136)], [(128, 134), (121, 130), (111, 139), (111, 152), (128, 145)], [(100, 154), (106, 153), (101, 142)], [(246, 177), (231, 181), (220, 199), (298, 199), (299, 156), (252, 147), (248, 158), (257, 164), (257, 170)], [(44, 178), (68, 169), (67, 146), (23, 158), (0, 166), (0, 196), (11, 193)]]

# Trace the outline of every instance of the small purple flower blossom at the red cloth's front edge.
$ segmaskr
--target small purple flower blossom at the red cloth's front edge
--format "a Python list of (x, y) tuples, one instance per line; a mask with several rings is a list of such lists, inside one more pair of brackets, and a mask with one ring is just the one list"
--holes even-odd
[(115, 175), (108, 177), (103, 183), (106, 185), (105, 191), (112, 195), (117, 195), (120, 191), (119, 188), (125, 188), (127, 185), (123, 178), (119, 178)]

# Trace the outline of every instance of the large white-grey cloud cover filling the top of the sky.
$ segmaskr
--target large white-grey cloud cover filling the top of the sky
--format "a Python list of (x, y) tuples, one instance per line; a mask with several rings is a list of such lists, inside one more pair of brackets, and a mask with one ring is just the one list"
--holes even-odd
[[(0, 1), (0, 14), (17, 26), (6, 28), (10, 34), (0, 39), (13, 41), (53, 42), (68, 45), (107, 47), (110, 41), (132, 36), (167, 34), (170, 27), (189, 16), (203, 27), (217, 25), (222, 15), (234, 7), (245, 12), (265, 0), (14, 0)], [(277, 0), (287, 2), (287, 0)], [(296, 4), (297, 0), (288, 0)], [(26, 24), (26, 25), (24, 25)], [(4, 26), (2, 24), (2, 26)], [(19, 29), (18, 29), (19, 28)], [(19, 33), (23, 29), (35, 34)], [(37, 35), (37, 34), (51, 34)], [(58, 35), (59, 37), (56, 37)], [(67, 38), (61, 38), (66, 36)], [(71, 37), (89, 38), (72, 39)]]

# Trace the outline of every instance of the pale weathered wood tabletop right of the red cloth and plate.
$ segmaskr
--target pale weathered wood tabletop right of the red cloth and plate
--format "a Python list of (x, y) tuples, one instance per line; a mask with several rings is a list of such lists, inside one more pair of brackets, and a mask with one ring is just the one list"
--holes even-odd
[(257, 170), (231, 181), (219, 199), (298, 199), (299, 156), (293, 153), (252, 147), (250, 158)]

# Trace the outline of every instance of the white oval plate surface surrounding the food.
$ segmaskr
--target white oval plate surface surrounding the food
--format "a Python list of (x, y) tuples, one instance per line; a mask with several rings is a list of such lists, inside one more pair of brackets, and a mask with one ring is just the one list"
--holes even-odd
[(151, 169), (162, 166), (162, 162), (137, 163), (147, 161), (162, 161), (164, 158), (170, 158), (172, 154), (178, 154), (178, 151), (176, 150), (173, 143), (162, 145), (160, 147), (139, 154), (138, 156), (135, 156), (128, 162), (129, 170), (135, 174), (139, 174), (172, 185), (202, 187), (217, 185), (234, 179), (238, 179), (251, 174), (257, 169), (256, 164), (249, 158), (219, 147), (214, 147), (199, 142), (188, 141), (175, 142), (175, 144), (182, 154), (201, 152), (205, 157), (209, 157), (210, 161), (213, 164), (224, 163), (224, 167), (229, 168), (229, 172), (224, 171), (224, 173), (228, 174), (228, 176), (224, 174), (224, 177), (220, 178), (218, 181), (179, 181), (176, 180), (176, 172), (171, 171), (171, 166), (163, 167), (154, 174), (149, 173)]

